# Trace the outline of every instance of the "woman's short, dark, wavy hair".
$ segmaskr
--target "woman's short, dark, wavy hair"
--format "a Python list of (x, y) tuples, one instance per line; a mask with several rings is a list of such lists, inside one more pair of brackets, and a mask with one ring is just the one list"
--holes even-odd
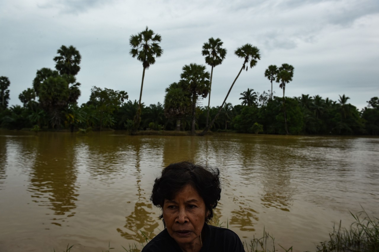
[[(204, 200), (208, 210), (205, 222), (213, 218), (213, 209), (221, 198), (220, 171), (217, 167), (188, 161), (172, 163), (162, 170), (154, 182), (150, 201), (163, 208), (164, 199), (172, 200), (186, 185), (192, 185)], [(159, 216), (163, 218), (163, 214)], [(164, 221), (163, 221), (164, 224)]]

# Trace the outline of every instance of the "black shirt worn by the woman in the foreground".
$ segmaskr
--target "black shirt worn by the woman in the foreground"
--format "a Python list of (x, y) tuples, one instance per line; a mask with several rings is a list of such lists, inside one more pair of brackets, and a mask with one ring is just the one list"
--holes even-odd
[[(222, 227), (210, 226), (204, 224), (202, 234), (203, 246), (200, 252), (244, 252), (243, 244), (230, 229)], [(176, 241), (169, 235), (167, 229), (164, 229), (157, 236), (155, 236), (146, 246), (142, 252), (182, 252)]]

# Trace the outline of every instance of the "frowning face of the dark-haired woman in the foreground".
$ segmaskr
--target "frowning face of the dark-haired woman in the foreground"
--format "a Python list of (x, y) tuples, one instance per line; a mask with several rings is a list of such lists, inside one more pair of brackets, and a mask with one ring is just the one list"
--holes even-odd
[(169, 235), (183, 246), (200, 246), (206, 208), (203, 199), (191, 185), (186, 185), (172, 200), (165, 199), (163, 220)]

